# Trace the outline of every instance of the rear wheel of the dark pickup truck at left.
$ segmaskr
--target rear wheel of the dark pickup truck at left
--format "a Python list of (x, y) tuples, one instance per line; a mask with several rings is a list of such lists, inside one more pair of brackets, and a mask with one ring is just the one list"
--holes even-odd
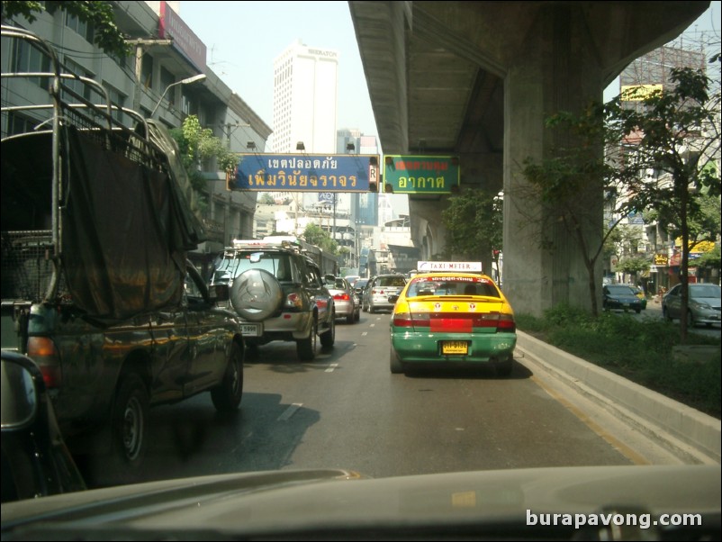
[(121, 376), (111, 411), (113, 455), (135, 467), (145, 456), (148, 438), (148, 388), (135, 372)]

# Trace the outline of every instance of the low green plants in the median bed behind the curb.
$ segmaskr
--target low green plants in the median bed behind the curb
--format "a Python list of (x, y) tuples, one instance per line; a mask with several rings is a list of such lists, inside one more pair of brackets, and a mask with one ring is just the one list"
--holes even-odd
[[(673, 348), (681, 344), (678, 324), (612, 312), (592, 318), (564, 305), (541, 318), (517, 314), (516, 320), (519, 330), (556, 348), (699, 411), (717, 418), (722, 414), (719, 359), (675, 359)], [(719, 339), (691, 334), (687, 344), (718, 347)]]

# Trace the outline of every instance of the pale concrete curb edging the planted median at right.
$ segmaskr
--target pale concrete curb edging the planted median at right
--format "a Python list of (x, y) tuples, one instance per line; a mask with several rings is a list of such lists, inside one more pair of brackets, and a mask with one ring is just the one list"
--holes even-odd
[(519, 330), (517, 348), (549, 373), (614, 411), (636, 429), (663, 441), (676, 455), (692, 463), (720, 463), (722, 420), (648, 390)]

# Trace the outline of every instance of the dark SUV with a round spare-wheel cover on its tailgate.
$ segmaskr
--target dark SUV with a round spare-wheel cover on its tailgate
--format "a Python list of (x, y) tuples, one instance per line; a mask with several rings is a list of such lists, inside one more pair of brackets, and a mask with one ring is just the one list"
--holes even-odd
[(301, 361), (336, 340), (333, 296), (319, 266), (293, 237), (235, 240), (215, 262), (212, 284), (230, 285), (230, 303), (250, 348), (294, 340)]

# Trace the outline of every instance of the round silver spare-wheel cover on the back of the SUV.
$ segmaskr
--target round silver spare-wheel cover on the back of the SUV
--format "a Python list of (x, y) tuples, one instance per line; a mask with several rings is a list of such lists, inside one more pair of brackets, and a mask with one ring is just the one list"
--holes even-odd
[(265, 269), (248, 269), (233, 279), (230, 304), (247, 321), (263, 321), (281, 308), (284, 292)]

